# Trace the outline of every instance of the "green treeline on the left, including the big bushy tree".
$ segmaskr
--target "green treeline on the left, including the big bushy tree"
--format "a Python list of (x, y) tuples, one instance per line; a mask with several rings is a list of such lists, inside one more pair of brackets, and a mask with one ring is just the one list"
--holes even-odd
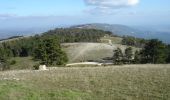
[(68, 61), (60, 43), (55, 37), (35, 36), (0, 44), (0, 70), (10, 69), (11, 57), (32, 56), (39, 64), (63, 65)]

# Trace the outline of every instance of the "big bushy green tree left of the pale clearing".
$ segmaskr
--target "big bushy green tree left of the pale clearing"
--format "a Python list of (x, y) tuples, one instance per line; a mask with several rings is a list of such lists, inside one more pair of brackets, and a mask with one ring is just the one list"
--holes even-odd
[(61, 50), (59, 42), (54, 38), (41, 40), (34, 50), (34, 58), (46, 65), (62, 65), (68, 61), (66, 53)]

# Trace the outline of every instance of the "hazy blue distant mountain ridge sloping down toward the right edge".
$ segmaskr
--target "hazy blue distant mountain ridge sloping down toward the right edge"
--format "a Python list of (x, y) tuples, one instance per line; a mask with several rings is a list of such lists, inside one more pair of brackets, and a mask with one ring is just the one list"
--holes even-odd
[(156, 29), (142, 29), (136, 27), (129, 27), (125, 25), (119, 24), (84, 24), (84, 25), (76, 25), (71, 28), (87, 28), (87, 29), (100, 29), (105, 31), (111, 31), (113, 34), (119, 36), (134, 36), (138, 38), (152, 39), (157, 38), (162, 40), (165, 43), (170, 43), (170, 32), (158, 31)]

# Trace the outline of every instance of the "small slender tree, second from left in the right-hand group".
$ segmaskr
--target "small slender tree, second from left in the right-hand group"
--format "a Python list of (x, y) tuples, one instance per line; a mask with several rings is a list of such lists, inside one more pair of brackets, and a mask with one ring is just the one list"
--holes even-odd
[(124, 60), (127, 63), (131, 63), (133, 59), (133, 51), (132, 51), (132, 47), (128, 47), (125, 49), (125, 57)]

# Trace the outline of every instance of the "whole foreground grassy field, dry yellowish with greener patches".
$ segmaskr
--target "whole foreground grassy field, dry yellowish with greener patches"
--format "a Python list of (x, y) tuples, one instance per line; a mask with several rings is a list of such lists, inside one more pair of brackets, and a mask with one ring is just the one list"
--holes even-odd
[(170, 65), (0, 72), (0, 100), (168, 100)]

